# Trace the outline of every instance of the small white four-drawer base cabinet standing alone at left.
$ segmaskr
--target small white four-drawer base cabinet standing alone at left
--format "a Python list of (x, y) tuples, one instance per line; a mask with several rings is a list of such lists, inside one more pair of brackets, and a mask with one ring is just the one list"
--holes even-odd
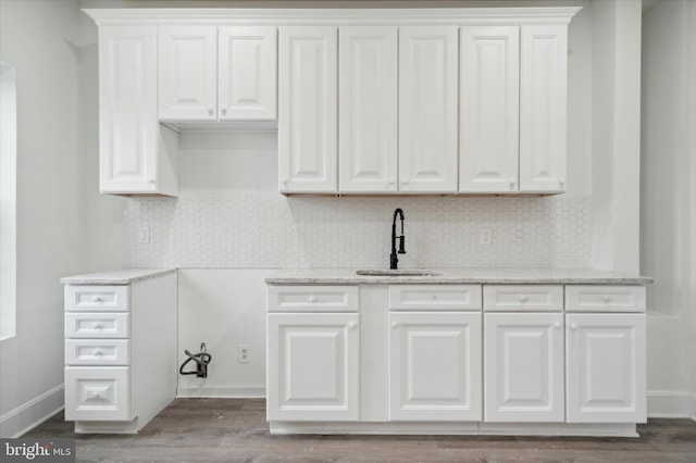
[(75, 433), (137, 433), (174, 400), (176, 280), (65, 286), (65, 420)]

